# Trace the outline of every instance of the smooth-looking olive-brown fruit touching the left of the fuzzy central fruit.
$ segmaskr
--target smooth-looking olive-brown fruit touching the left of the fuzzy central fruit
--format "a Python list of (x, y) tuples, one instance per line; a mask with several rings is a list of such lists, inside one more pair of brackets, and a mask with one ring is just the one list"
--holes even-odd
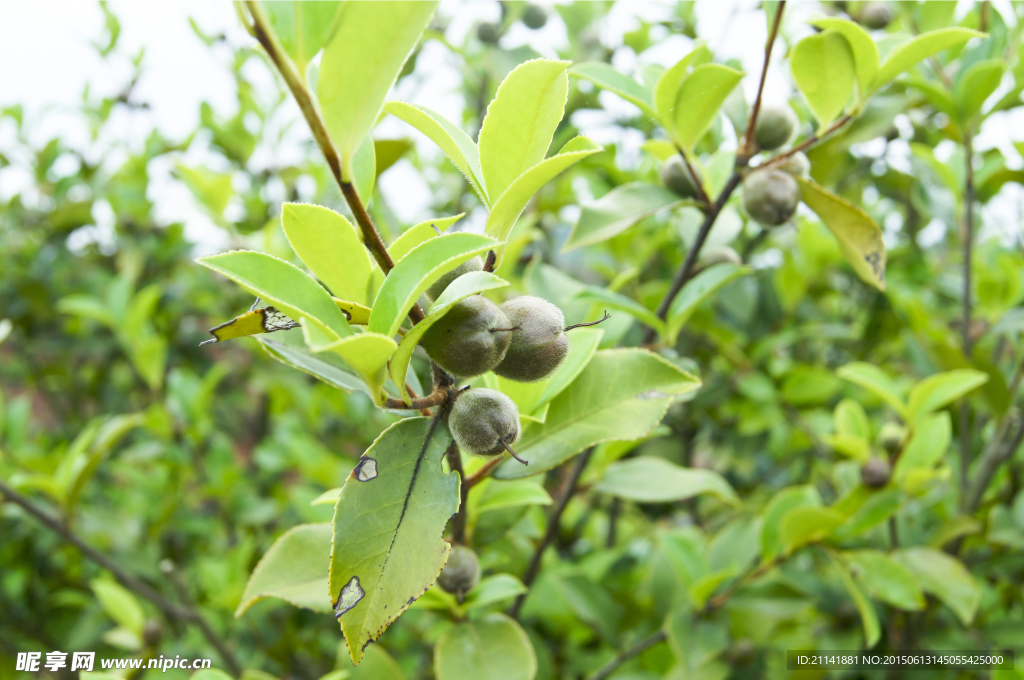
[(456, 303), (423, 334), (423, 348), (437, 366), (472, 378), (498, 366), (509, 347), (512, 327), (494, 302), (473, 295)]

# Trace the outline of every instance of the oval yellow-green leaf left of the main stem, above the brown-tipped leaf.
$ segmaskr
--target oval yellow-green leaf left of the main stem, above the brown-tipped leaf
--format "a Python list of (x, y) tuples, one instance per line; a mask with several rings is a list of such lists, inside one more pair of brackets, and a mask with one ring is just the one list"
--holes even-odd
[(355, 226), (328, 208), (286, 203), (281, 224), (292, 250), (331, 292), (367, 304), (374, 263)]

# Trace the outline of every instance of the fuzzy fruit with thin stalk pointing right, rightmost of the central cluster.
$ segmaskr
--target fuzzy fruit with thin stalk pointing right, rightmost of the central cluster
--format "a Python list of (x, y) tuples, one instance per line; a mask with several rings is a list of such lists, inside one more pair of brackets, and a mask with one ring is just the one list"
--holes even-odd
[(544, 380), (569, 352), (565, 315), (557, 306), (531, 295), (512, 298), (501, 306), (511, 328), (508, 352), (495, 373), (518, 382)]

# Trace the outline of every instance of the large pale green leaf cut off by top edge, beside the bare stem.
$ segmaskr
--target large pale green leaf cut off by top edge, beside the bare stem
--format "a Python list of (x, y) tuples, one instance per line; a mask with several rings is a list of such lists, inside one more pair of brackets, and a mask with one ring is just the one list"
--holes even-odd
[(352, 181), (355, 151), (436, 8), (436, 2), (346, 2), (338, 10), (316, 94), (345, 181)]

